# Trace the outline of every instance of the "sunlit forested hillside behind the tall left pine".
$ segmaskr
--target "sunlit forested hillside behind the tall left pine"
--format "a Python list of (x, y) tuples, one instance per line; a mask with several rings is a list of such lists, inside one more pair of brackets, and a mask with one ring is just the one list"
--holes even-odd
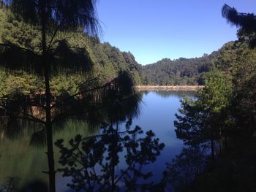
[[(0, 43), (23, 47), (34, 53), (41, 51), (39, 50), (41, 38), (39, 29), (24, 23), (23, 20), (15, 17), (11, 12), (7, 12), (3, 7), (0, 9), (0, 26)], [(100, 43), (97, 37), (89, 37), (82, 30), (77, 33), (60, 31), (56, 35), (55, 41), (57, 42), (58, 39), (64, 39), (63, 44), (69, 47), (83, 48), (91, 65), (91, 72), (86, 74), (86, 77), (75, 70), (74, 72), (61, 70), (61, 74), (53, 75), (50, 84), (57, 94), (61, 92), (72, 93), (80, 82), (89, 78), (97, 78), (99, 83), (108, 82), (121, 71), (128, 71), (132, 74), (135, 83), (143, 83), (142, 68), (135, 61), (132, 53), (121, 52), (108, 42)], [(47, 40), (50, 42), (50, 39)], [(53, 46), (58, 45), (56, 43)], [(20, 66), (22, 65), (20, 64)], [(40, 83), (42, 82), (39, 80), (40, 77), (23, 72), (22, 67), (20, 70), (12, 72), (0, 69), (0, 74), (0, 96), (17, 92), (27, 94), (43, 90), (44, 85)]]

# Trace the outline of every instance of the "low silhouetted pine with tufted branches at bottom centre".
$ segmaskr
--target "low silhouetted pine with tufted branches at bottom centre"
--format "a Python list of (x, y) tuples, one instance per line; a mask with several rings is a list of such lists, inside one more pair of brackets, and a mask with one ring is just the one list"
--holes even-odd
[[(118, 131), (110, 124), (102, 126), (101, 134), (83, 138), (78, 135), (69, 141), (69, 147), (58, 140), (56, 146), (61, 150), (59, 169), (64, 177), (72, 177), (68, 186), (75, 191), (151, 191), (151, 172), (143, 166), (157, 160), (165, 146), (159, 143), (152, 131), (143, 131), (136, 126), (130, 128), (127, 121), (124, 131)], [(121, 164), (120, 158), (125, 159)]]

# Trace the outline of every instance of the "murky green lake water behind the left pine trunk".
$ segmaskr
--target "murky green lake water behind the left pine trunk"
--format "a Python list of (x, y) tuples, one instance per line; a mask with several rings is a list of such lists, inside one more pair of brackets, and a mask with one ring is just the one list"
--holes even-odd
[[(34, 127), (27, 125), (19, 131), (16, 139), (6, 136), (0, 140), (0, 181), (4, 183), (7, 183), (7, 177), (17, 177), (20, 185), (36, 178), (45, 182), (48, 181), (48, 175), (42, 173), (48, 169), (47, 156), (45, 155), (46, 146), (30, 145)], [(54, 131), (53, 138), (54, 140), (64, 138), (68, 141), (76, 134), (83, 134), (86, 137), (92, 133), (86, 122), (67, 120), (62, 131)], [(55, 149), (55, 151), (57, 150)], [(54, 155), (56, 159), (59, 158), (59, 153)]]

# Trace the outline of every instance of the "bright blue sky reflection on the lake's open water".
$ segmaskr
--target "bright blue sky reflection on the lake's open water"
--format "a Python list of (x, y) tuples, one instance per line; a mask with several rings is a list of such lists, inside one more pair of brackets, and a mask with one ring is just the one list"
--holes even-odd
[[(165, 143), (165, 148), (161, 155), (157, 157), (154, 164), (149, 164), (144, 169), (153, 172), (152, 180), (159, 181), (162, 178), (162, 172), (165, 164), (170, 163), (172, 158), (181, 152), (182, 141), (176, 138), (175, 127), (173, 121), (176, 120), (175, 114), (181, 107), (180, 100), (185, 94), (190, 98), (195, 98), (195, 92), (186, 91), (149, 91), (143, 93), (143, 104), (141, 106), (140, 115), (132, 121), (131, 128), (136, 125), (140, 126), (144, 133), (148, 130), (154, 131), (159, 138), (159, 142)], [(124, 123), (120, 128), (124, 127)], [(124, 161), (124, 156), (119, 156), (120, 161)], [(124, 163), (120, 162), (118, 167), (125, 168)], [(61, 178), (57, 176), (58, 191), (69, 191), (65, 187), (69, 178)], [(64, 184), (65, 183), (65, 184)]]

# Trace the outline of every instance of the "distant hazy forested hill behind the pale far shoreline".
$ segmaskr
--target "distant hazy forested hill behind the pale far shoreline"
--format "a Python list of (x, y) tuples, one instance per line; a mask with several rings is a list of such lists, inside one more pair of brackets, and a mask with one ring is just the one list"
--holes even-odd
[(155, 64), (143, 66), (148, 84), (203, 85), (203, 74), (211, 69), (211, 60), (218, 52), (200, 58), (164, 58)]

